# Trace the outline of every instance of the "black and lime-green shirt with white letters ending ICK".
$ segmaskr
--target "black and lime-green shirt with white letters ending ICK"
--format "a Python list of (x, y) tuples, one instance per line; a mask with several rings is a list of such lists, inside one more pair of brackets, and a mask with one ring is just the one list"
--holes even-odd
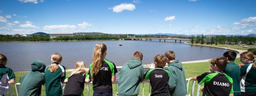
[(112, 76), (115, 75), (115, 67), (114, 64), (106, 59), (103, 59), (102, 65), (99, 68), (99, 72), (94, 75), (92, 74), (92, 66), (90, 65), (90, 74), (93, 76), (93, 91), (94, 93), (101, 92), (112, 92)]

